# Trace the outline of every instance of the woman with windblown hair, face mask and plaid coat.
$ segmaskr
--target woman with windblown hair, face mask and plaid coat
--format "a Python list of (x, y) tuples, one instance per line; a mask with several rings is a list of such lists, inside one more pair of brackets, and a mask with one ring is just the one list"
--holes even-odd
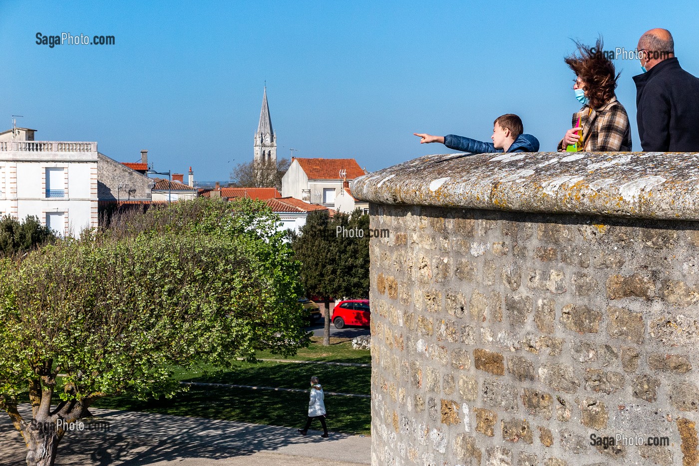
[(575, 73), (572, 88), (582, 108), (572, 115), (573, 127), (563, 136), (559, 151), (568, 146), (573, 146), (568, 149), (573, 152), (630, 151), (628, 115), (614, 94), (619, 75), (614, 75), (614, 64), (605, 56), (602, 40), (593, 48), (577, 43), (577, 50), (580, 56), (572, 54), (565, 63)]

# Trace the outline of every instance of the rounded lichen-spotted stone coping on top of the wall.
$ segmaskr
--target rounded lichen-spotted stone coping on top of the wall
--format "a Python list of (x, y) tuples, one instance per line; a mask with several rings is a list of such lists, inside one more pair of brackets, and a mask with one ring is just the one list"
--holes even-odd
[(699, 220), (699, 152), (436, 154), (368, 173), (379, 204)]

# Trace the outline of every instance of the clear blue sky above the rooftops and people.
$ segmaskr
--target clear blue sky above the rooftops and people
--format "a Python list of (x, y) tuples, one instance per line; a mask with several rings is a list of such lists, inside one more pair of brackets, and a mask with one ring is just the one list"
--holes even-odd
[[(119, 161), (149, 150), (158, 171), (228, 180), (252, 160), (267, 83), (278, 156), (354, 157), (377, 170), (450, 152), (414, 131), (489, 140), (517, 113), (554, 150), (579, 109), (563, 57), (572, 38), (633, 50), (647, 29), (675, 37), (699, 75), (699, 3), (591, 1), (0, 0), (0, 129), (96, 140)], [(36, 44), (36, 33), (113, 35), (115, 45)], [(633, 147), (637, 60), (615, 61)]]

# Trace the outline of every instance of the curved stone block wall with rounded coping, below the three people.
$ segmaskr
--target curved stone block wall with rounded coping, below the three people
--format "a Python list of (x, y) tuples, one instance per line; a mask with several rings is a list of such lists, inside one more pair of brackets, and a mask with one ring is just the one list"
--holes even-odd
[(696, 155), (635, 178), (613, 163), (628, 155), (426, 156), (354, 182), (390, 232), (370, 240), (374, 466), (699, 465), (699, 223), (677, 170)]

